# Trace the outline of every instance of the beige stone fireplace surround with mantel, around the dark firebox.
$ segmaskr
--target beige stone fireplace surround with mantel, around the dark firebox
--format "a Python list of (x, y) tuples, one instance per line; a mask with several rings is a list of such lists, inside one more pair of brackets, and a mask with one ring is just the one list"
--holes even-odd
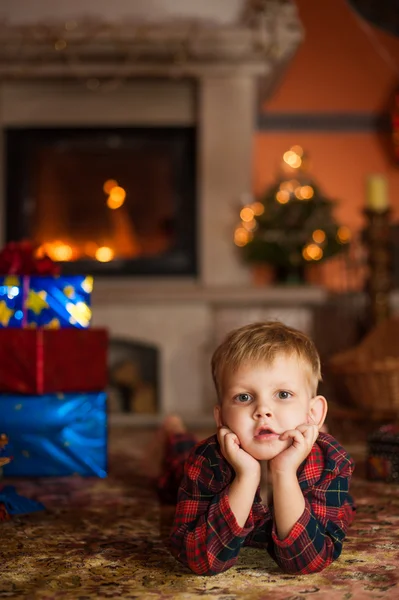
[[(157, 350), (157, 377), (139, 368), (140, 387), (146, 390), (146, 397), (148, 393), (156, 398), (150, 402), (156, 413), (141, 412), (137, 395), (132, 402), (130, 390), (134, 391), (137, 382), (137, 368), (129, 364), (130, 359), (122, 358), (117, 366), (119, 390), (114, 398), (113, 421), (126, 423), (131, 418), (132, 423), (153, 423), (178, 411), (198, 425), (201, 418), (211, 414), (214, 402), (209, 357), (216, 337), (224, 331), (220, 323), (225, 322), (226, 311), (231, 326), (262, 317), (258, 308), (266, 303), (280, 309), (287, 295), (294, 297), (291, 292), (273, 293), (251, 286), (251, 274), (238, 258), (233, 232), (240, 198), (252, 188), (256, 109), (270, 96), (302, 39), (295, 4), (278, 0), (132, 0), (123, 2), (122, 10), (121, 2), (115, 0), (112, 9), (107, 5), (109, 16), (98, 23), (97, 13), (105, 4), (90, 3), (89, 7), (81, 0), (73, 8), (57, 3), (58, 21), (50, 20), (44, 28), (38, 23), (46, 19), (43, 12), (36, 17), (37, 27), (33, 17), (33, 24), (19, 26), (18, 21), (26, 20), (26, 11), (18, 9), (19, 4), (19, 0), (10, 3), (8, 13), (13, 21), (0, 28), (0, 159), (9, 149), (11, 133), (23, 129), (33, 135), (35, 129), (59, 128), (190, 130), (195, 152), (193, 147), (188, 151), (192, 157), (188, 169), (195, 177), (183, 179), (182, 185), (189, 187), (191, 196), (190, 191), (182, 193), (172, 222), (168, 214), (163, 223), (171, 244), (168, 250), (146, 259), (136, 255), (101, 264), (91, 257), (87, 266), (64, 261), (63, 270), (83, 272), (87, 268), (93, 272), (96, 267), (97, 272), (114, 275), (120, 266), (117, 262), (125, 263), (126, 268), (129, 262), (131, 277), (95, 278), (93, 325), (107, 327), (111, 339), (134, 340)], [(36, 4), (44, 9), (45, 3), (33, 4), (35, 10)], [(53, 6), (47, 5), (47, 12), (52, 13)], [(145, 14), (143, 21), (126, 17), (126, 12), (139, 8)], [(64, 9), (65, 22), (59, 14)], [(35, 31), (40, 35), (32, 35)], [(28, 136), (21, 143), (22, 151)], [(16, 170), (22, 168), (19, 162), (22, 165), (15, 160)], [(22, 177), (17, 179), (14, 174), (11, 180), (9, 165), (7, 172), (2, 167), (0, 160), (2, 225), (3, 212), (7, 211), (6, 227), (0, 227), (4, 241), (4, 229), (9, 239), (25, 235), (26, 229), (19, 229), (20, 222), (25, 222), (25, 228), (32, 226), (27, 222), (35, 206), (15, 199)], [(7, 188), (3, 175), (7, 176)], [(127, 188), (123, 173), (104, 174), (96, 184), (103, 204), (107, 198), (102, 186), (108, 178)], [(29, 188), (25, 187), (24, 193), (30, 197)], [(12, 216), (14, 204), (20, 210), (25, 207), (28, 216)], [(82, 209), (80, 203), (78, 209)], [(120, 208), (112, 214), (118, 211)], [(133, 224), (137, 234), (137, 217)], [(177, 235), (181, 224), (183, 237)], [(184, 244), (191, 244), (191, 254)], [(181, 247), (185, 250), (178, 253)], [(163, 262), (163, 271), (159, 262), (165, 254), (169, 265), (165, 267)], [(191, 256), (188, 261), (187, 256)], [(149, 273), (139, 268), (140, 261), (145, 261), (147, 268), (151, 265), (150, 276), (139, 276)], [(169, 275), (162, 277), (166, 273)], [(302, 293), (302, 304), (313, 302), (308, 295), (312, 293)], [(292, 302), (300, 303), (300, 296), (295, 293)], [(238, 311), (234, 319), (229, 312), (232, 309)], [(273, 311), (273, 316), (287, 315)], [(137, 365), (136, 355), (132, 357)], [(148, 407), (146, 402), (144, 405)]]

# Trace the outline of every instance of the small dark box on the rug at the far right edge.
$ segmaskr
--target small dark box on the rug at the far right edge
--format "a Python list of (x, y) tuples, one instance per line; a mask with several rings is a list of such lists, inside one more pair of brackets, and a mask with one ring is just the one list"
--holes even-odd
[(385, 425), (367, 438), (367, 478), (399, 483), (399, 426)]

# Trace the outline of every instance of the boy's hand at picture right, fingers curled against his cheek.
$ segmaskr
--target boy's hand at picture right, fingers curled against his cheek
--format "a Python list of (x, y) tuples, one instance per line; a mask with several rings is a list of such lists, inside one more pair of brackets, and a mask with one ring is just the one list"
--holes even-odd
[(280, 440), (292, 440), (292, 444), (271, 459), (270, 470), (272, 475), (280, 473), (296, 475), (299, 465), (309, 455), (318, 435), (319, 428), (317, 425), (306, 423), (298, 425), (296, 429), (290, 429), (282, 433)]

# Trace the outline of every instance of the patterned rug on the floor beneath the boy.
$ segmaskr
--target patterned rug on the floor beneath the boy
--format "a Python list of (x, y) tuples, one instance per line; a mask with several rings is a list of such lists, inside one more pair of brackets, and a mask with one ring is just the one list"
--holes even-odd
[(226, 573), (196, 576), (165, 546), (173, 510), (138, 475), (144, 441), (134, 429), (115, 430), (105, 480), (7, 482), (47, 510), (0, 524), (0, 598), (399, 598), (399, 486), (367, 482), (358, 468), (355, 523), (341, 558), (320, 574), (286, 575), (262, 551), (244, 548)]

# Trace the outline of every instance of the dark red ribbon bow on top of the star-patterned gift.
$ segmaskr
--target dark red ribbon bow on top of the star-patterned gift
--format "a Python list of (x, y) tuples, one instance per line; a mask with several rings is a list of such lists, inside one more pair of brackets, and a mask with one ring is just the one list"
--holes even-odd
[(47, 255), (37, 256), (37, 246), (29, 241), (8, 242), (0, 251), (2, 275), (59, 275), (60, 267)]

